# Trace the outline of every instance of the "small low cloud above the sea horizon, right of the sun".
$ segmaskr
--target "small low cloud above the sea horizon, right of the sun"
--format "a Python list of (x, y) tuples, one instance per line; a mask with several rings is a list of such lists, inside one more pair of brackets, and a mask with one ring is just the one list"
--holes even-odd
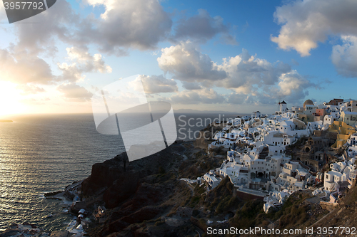
[(64, 97), (69, 101), (85, 102), (91, 100), (92, 93), (86, 88), (76, 85), (74, 83), (62, 84), (57, 87), (60, 93), (64, 94)]

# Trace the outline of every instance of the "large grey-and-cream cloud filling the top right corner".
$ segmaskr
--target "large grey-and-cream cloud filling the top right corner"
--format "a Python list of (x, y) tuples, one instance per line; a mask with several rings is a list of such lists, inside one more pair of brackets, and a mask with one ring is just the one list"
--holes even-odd
[(276, 9), (274, 17), (283, 25), (271, 41), (278, 47), (295, 49), (301, 56), (324, 42), (328, 35), (357, 36), (357, 1), (297, 0)]

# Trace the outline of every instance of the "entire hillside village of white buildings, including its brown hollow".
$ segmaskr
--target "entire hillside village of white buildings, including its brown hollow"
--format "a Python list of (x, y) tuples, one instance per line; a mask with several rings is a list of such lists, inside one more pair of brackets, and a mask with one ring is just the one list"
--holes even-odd
[(282, 101), (273, 115), (256, 111), (216, 123), (223, 128), (208, 152), (226, 150), (226, 159), (188, 182), (210, 190), (228, 177), (237, 196), (266, 201), (268, 213), (303, 189), (313, 190), (321, 205), (334, 206), (356, 179), (357, 100), (306, 100), (291, 109)]

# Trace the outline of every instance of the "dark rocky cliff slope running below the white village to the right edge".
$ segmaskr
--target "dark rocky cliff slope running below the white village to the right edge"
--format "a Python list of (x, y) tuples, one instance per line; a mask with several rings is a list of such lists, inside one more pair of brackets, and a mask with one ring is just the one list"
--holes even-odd
[(263, 201), (239, 199), (228, 179), (211, 191), (180, 180), (196, 179), (219, 167), (225, 158), (212, 153), (208, 156), (193, 142), (181, 142), (126, 162), (125, 171), (125, 153), (94, 164), (82, 194), (96, 200), (87, 208), (104, 204), (107, 210), (105, 218), (90, 226), (89, 236), (207, 236), (208, 226), (304, 230), (357, 225), (356, 186), (336, 209), (324, 209), (314, 201), (312, 191), (304, 190), (292, 194), (279, 211), (265, 214)]

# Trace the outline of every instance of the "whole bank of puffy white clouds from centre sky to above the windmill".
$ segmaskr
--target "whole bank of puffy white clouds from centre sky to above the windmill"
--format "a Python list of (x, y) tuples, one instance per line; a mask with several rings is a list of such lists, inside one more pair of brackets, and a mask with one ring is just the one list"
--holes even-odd
[[(279, 98), (296, 102), (308, 95), (308, 88), (318, 88), (291, 70), (290, 65), (270, 63), (249, 55), (245, 49), (238, 56), (223, 58), (221, 64), (213, 63), (190, 42), (164, 48), (162, 52), (158, 58), (160, 68), (174, 74), (186, 89), (173, 95), (172, 102), (257, 104)], [(208, 88), (224, 88), (233, 93), (218, 95)]]

